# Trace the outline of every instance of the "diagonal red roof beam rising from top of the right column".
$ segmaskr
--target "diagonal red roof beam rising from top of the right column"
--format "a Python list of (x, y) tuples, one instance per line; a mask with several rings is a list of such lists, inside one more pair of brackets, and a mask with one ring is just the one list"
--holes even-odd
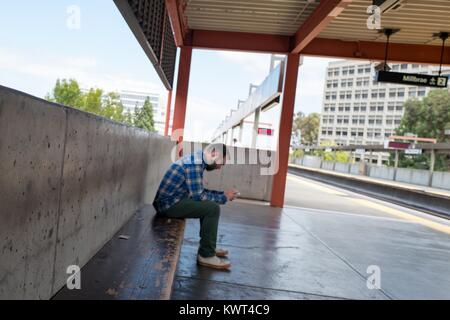
[(292, 53), (300, 53), (352, 0), (322, 0), (295, 34)]

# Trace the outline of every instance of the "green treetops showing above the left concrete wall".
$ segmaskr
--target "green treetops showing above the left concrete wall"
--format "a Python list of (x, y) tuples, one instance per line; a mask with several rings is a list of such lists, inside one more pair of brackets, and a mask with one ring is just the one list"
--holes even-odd
[(134, 113), (125, 112), (119, 94), (109, 92), (106, 95), (102, 89), (89, 89), (81, 92), (78, 82), (74, 79), (58, 79), (55, 87), (46, 99), (85, 112), (94, 113), (110, 120), (136, 125), (137, 127), (154, 132), (153, 107), (147, 98), (141, 109)]

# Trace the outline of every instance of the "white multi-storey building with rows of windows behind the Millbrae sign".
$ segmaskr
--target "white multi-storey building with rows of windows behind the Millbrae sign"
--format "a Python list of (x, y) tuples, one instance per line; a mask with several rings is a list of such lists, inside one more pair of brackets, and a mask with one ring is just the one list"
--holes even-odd
[[(328, 65), (321, 112), (319, 143), (373, 145), (395, 134), (404, 114), (404, 102), (421, 99), (431, 88), (379, 83), (374, 63), (335, 61)], [(439, 67), (390, 64), (391, 71), (438, 74)], [(444, 68), (443, 75), (450, 74)]]

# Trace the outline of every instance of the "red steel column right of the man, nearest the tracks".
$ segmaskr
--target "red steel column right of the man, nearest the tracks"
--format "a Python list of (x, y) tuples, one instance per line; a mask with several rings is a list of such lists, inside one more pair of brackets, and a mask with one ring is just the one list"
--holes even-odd
[(272, 207), (283, 207), (286, 189), (286, 175), (289, 162), (289, 148), (291, 145), (292, 122), (294, 119), (295, 93), (300, 55), (289, 54), (287, 57), (286, 77), (284, 83), (283, 103), (280, 117), (280, 132), (278, 135), (278, 171), (273, 177)]

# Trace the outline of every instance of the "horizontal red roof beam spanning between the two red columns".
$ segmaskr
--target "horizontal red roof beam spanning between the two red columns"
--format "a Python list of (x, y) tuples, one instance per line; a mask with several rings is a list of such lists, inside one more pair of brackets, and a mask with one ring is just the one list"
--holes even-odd
[(194, 48), (214, 50), (240, 50), (260, 53), (289, 53), (290, 37), (245, 33), (191, 30)]

